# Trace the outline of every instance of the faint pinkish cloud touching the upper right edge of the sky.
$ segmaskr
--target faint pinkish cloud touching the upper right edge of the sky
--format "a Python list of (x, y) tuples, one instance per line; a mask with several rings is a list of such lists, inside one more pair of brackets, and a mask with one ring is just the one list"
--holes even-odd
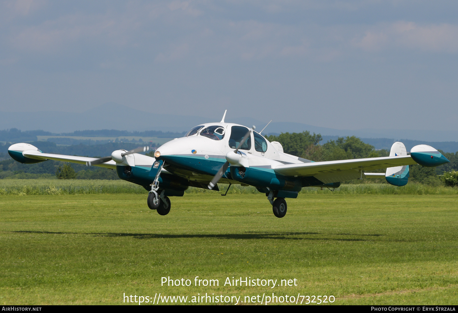
[(366, 51), (404, 48), (455, 54), (458, 52), (458, 25), (393, 22), (366, 31), (353, 43)]

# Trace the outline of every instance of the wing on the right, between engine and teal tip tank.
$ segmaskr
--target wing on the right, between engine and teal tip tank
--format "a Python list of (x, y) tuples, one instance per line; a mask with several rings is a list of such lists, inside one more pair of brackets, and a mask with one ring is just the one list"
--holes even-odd
[[(366, 178), (364, 172), (361, 173), (361, 169), (365, 171), (411, 164), (417, 164), (417, 162), (415, 162), (409, 155), (396, 157), (371, 157), (366, 159), (326, 162), (309, 162), (299, 164), (281, 164), (277, 165), (273, 169), (276, 173), (285, 176), (314, 176), (323, 183), (337, 183), (345, 180)], [(382, 173), (382, 175), (385, 174)]]

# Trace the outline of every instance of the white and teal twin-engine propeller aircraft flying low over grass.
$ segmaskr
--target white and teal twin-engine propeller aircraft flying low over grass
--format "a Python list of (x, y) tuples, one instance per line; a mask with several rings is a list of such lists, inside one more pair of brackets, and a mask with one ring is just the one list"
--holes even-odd
[[(119, 178), (149, 191), (148, 207), (160, 215), (169, 213), (170, 196), (183, 196), (189, 186), (219, 191), (221, 182), (229, 183), (229, 188), (231, 184), (256, 187), (266, 194), (273, 214), (284, 217), (285, 198), (297, 198), (302, 187), (334, 189), (343, 181), (383, 176), (392, 185), (404, 186), (409, 165), (436, 167), (449, 162), (427, 145), (414, 146), (408, 155), (402, 142), (393, 144), (389, 157), (313, 162), (284, 153), (279, 142), (269, 142), (254, 126), (225, 123), (225, 116), (226, 112), (221, 122), (198, 125), (184, 137), (166, 142), (154, 157), (139, 154), (148, 147), (116, 150), (97, 159), (43, 153), (27, 143), (10, 146), (8, 153), (27, 164), (56, 160), (116, 169)], [(365, 173), (379, 168), (386, 168), (386, 173)]]

